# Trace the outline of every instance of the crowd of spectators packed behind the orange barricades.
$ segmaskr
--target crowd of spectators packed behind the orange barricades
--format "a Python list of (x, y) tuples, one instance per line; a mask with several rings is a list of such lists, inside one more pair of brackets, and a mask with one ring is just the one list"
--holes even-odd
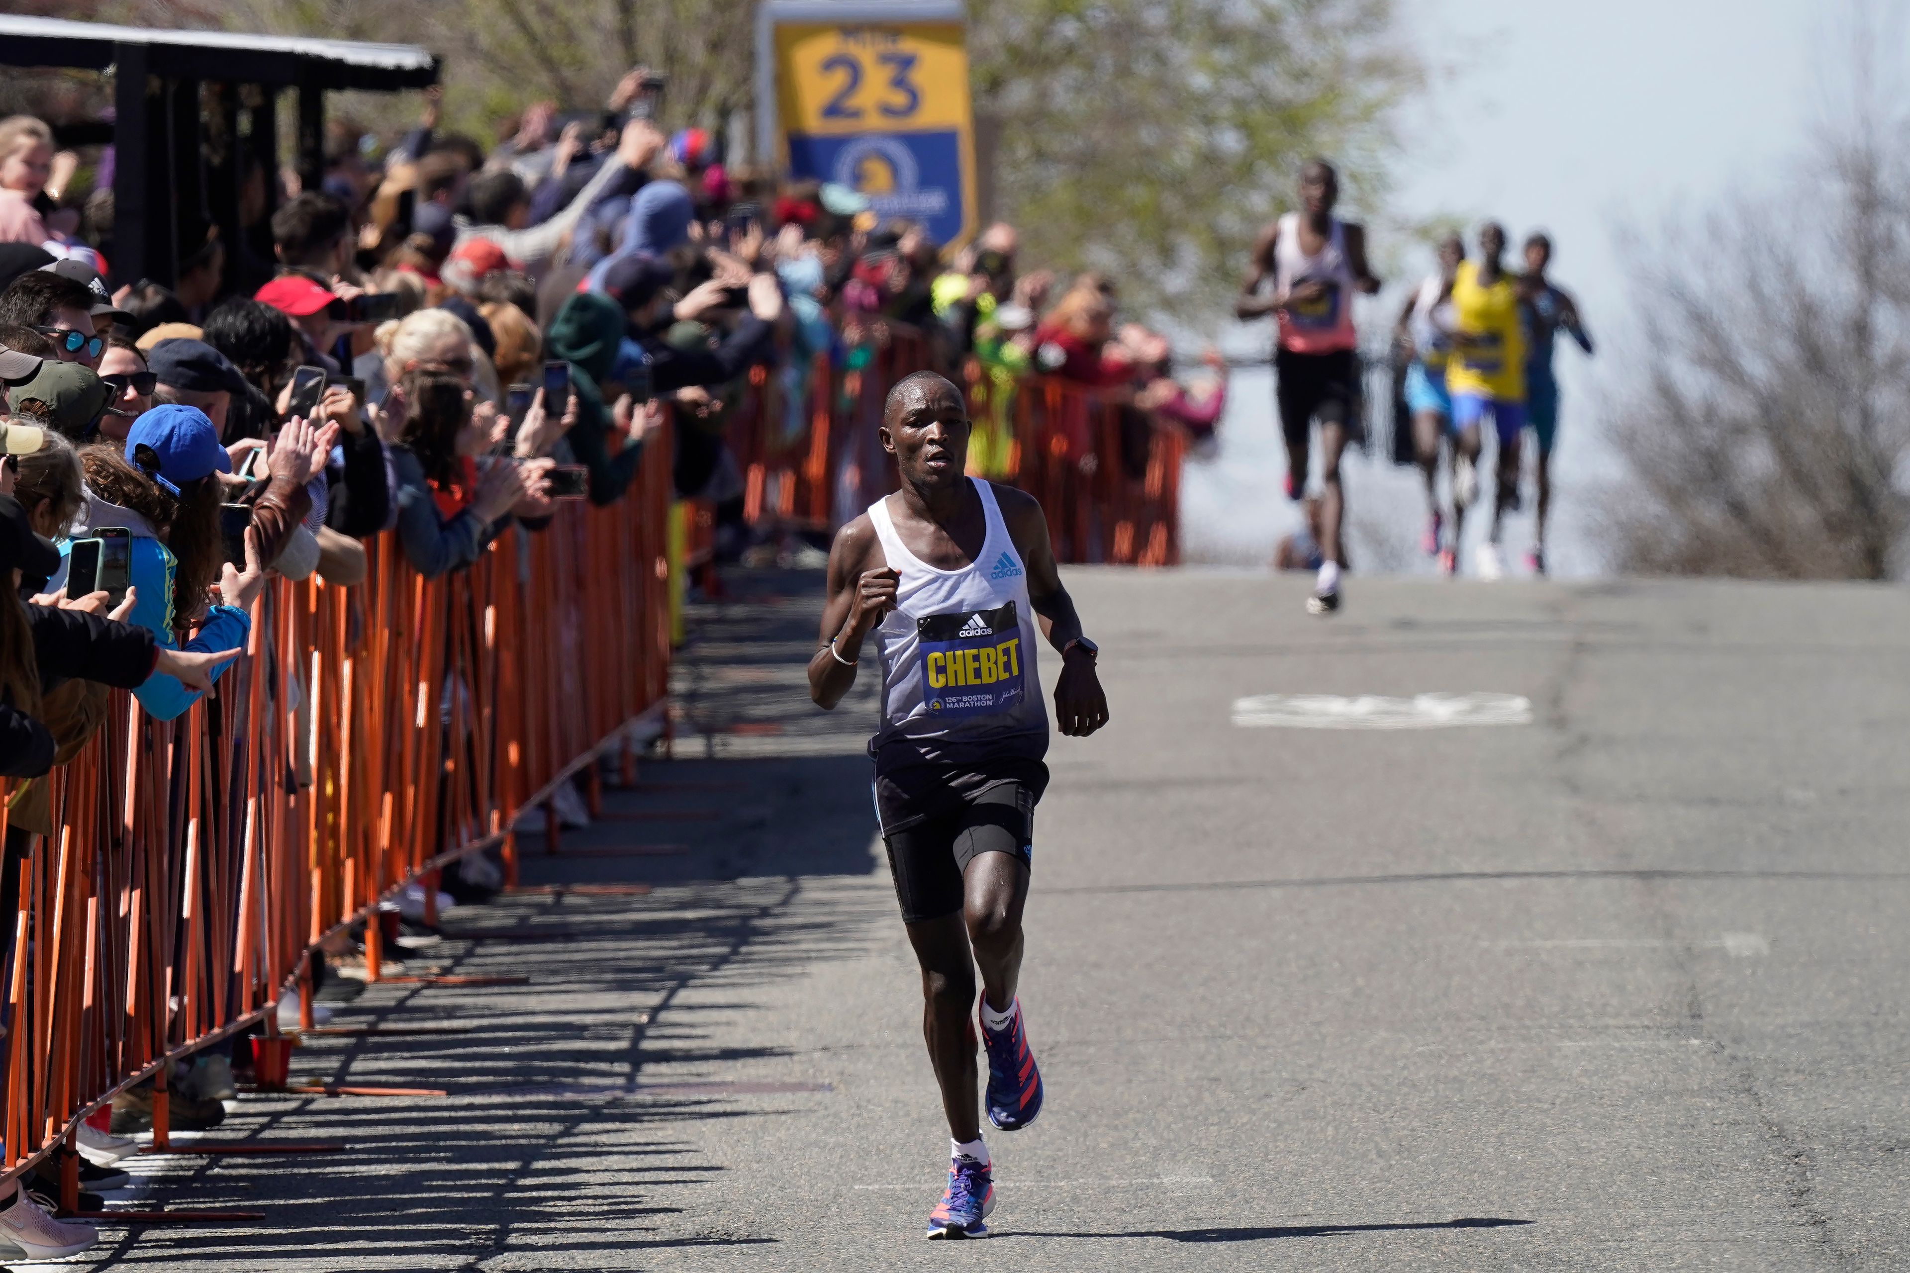
[[(1110, 279), (1020, 269), (1007, 225), (944, 248), (848, 187), (732, 170), (718, 137), (628, 111), (647, 82), (626, 76), (604, 113), (531, 107), (489, 153), (441, 130), (435, 95), (384, 149), (334, 126), (323, 179), (275, 177), (271, 261), (191, 231), (172, 286), (118, 277), (105, 191), (80, 189), (46, 124), (0, 120), (0, 553), (17, 584), (0, 603), (0, 775), (31, 781), (27, 805), (40, 792), (0, 880), (50, 830), (44, 775), (99, 727), (105, 687), (181, 714), (244, 647), (269, 573), (357, 584), (382, 531), (422, 574), (464, 569), (560, 498), (625, 498), (670, 408), (676, 494), (712, 500), (739, 548), (726, 424), (753, 374), (779, 380), (775, 428), (795, 435), (819, 361), (861, 366), (913, 330), (978, 389), (978, 429), (997, 429), (978, 435), (984, 473), (1028, 374), (1211, 435), (1224, 380), (1177, 382), (1167, 340), (1115, 321)], [(101, 531), (124, 536), (130, 586), (73, 595), (74, 546)], [(432, 941), (416, 918), (405, 933)], [(231, 1088), (227, 1059), (199, 1057), (172, 1126), (218, 1122)], [(117, 1134), (149, 1107), (126, 1092), (111, 1134), (82, 1136), (88, 1187), (115, 1178)], [(0, 1199), (17, 1244), (88, 1233)]]

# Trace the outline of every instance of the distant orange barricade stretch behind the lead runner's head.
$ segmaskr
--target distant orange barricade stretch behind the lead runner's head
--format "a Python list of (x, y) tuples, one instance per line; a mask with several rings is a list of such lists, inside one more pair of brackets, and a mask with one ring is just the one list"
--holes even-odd
[[(902, 376), (942, 366), (921, 332), (894, 324), (860, 353), (860, 366), (817, 355), (800, 410), (775, 376), (753, 378), (728, 426), (753, 525), (827, 534), (896, 489), (877, 439), (882, 399)], [(1060, 561), (1180, 561), (1180, 429), (1068, 380), (995, 382), (976, 368), (966, 382), (970, 471), (1037, 496)]]

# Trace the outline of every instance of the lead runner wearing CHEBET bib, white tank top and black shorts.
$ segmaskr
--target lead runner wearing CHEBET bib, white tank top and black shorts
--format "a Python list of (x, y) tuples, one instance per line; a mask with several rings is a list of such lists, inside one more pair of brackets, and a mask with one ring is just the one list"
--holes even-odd
[(879, 435), (902, 490), (837, 534), (823, 645), (810, 658), (810, 699), (833, 708), (875, 634), (875, 809), (923, 968), (923, 1034), (953, 1149), (947, 1191), (928, 1214), (932, 1239), (984, 1237), (995, 1206), (974, 1099), (976, 966), (987, 1120), (1012, 1132), (1041, 1113), (1041, 1073), (1014, 996), (1033, 809), (1049, 783), (1037, 615), (1062, 655), (1062, 733), (1087, 737), (1108, 723), (1098, 651), (1062, 588), (1041, 506), (966, 475), (968, 428), (966, 395), (934, 372), (888, 391)]

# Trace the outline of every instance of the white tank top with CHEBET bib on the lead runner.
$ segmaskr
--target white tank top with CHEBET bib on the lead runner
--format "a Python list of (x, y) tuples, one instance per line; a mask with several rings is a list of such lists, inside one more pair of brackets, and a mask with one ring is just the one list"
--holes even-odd
[(875, 630), (882, 727), (869, 752), (877, 769), (966, 760), (997, 741), (1026, 752), (1029, 735), (1047, 742), (1028, 571), (1001, 519), (995, 489), (970, 481), (982, 496), (987, 534), (976, 559), (955, 571), (938, 571), (902, 544), (888, 498), (869, 506), (882, 555), (902, 574), (896, 609)]

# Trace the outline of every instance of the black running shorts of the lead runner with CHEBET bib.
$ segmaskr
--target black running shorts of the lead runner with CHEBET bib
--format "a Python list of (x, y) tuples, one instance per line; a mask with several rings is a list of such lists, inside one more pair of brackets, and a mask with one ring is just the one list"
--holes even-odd
[(963, 908), (963, 874), (982, 853), (1033, 866), (1035, 784), (1003, 781), (882, 836), (902, 920), (919, 924)]

